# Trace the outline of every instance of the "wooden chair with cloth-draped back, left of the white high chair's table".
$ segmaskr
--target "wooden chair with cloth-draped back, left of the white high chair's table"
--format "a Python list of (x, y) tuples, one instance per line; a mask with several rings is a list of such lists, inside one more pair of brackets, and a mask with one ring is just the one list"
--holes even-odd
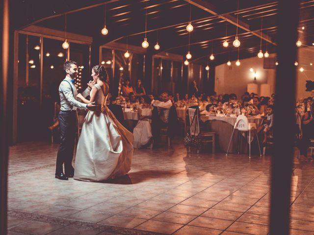
[[(196, 117), (192, 123), (193, 117), (196, 113)], [(200, 127), (200, 111), (198, 107), (190, 107), (188, 108), (188, 119), (189, 123), (192, 125), (189, 127), (191, 136), (200, 136), (201, 137), (201, 146), (198, 147), (197, 153), (200, 152), (203, 145), (211, 143), (212, 144), (212, 153), (215, 153), (215, 132), (204, 131)], [(188, 147), (188, 151), (191, 150), (191, 147)]]

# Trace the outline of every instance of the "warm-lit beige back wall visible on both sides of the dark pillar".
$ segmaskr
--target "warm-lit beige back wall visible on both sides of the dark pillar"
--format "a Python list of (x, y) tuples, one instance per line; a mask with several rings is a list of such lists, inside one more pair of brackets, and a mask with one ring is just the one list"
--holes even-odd
[[(270, 57), (276, 57), (276, 54), (271, 54)], [(306, 80), (314, 81), (314, 48), (299, 48), (297, 58), (296, 99), (314, 96), (314, 91), (305, 91)], [(270, 85), (270, 93), (275, 93), (275, 69), (263, 69), (263, 59), (259, 59), (257, 56), (241, 60), (240, 62), (241, 65), (239, 67), (235, 66), (235, 61), (231, 62), (232, 65), (230, 67), (227, 64), (216, 66), (215, 91), (217, 94), (235, 93), (239, 96), (246, 92), (247, 84), (254, 81), (254, 77), (252, 77), (252, 73), (249, 71), (251, 67), (258, 72), (257, 84), (267, 83)], [(311, 66), (310, 63), (313, 63), (313, 65)], [(301, 67), (304, 69), (303, 72), (299, 70)]]

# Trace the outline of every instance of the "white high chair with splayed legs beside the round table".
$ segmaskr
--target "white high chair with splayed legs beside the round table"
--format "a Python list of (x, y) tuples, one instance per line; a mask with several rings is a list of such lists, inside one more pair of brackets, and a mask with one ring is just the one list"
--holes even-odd
[[(236, 118), (234, 130), (233, 130), (231, 138), (230, 138), (230, 142), (229, 142), (226, 156), (228, 155), (231, 141), (232, 141), (233, 135), (235, 133), (235, 129), (237, 129), (238, 131), (245, 131), (245, 132), (248, 131), (249, 132), (249, 158), (251, 158), (251, 131), (255, 131), (257, 142), (259, 145), (260, 156), (262, 157), (260, 141), (259, 141), (259, 137), (258, 137), (258, 133), (257, 133), (256, 124), (255, 123), (249, 123), (248, 119), (244, 115), (239, 115)], [(239, 153), (239, 149), (238, 149), (238, 153)]]

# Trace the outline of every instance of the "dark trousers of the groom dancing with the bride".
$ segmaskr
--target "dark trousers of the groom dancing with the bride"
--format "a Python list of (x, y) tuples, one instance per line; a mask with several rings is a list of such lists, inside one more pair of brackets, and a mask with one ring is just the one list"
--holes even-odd
[(74, 168), (72, 166), (75, 135), (76, 135), (76, 111), (60, 111), (58, 115), (59, 126), (61, 132), (60, 146), (57, 154), (57, 161), (55, 173), (63, 172), (73, 174)]

